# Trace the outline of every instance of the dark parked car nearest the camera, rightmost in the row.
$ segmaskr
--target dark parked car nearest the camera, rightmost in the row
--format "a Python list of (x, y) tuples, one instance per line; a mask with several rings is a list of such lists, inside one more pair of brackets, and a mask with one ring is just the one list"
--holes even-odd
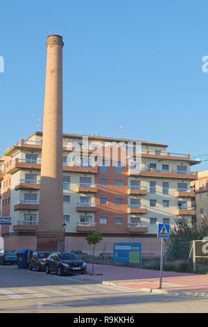
[(46, 273), (54, 271), (58, 276), (64, 274), (84, 274), (87, 264), (73, 252), (51, 253), (46, 260)]

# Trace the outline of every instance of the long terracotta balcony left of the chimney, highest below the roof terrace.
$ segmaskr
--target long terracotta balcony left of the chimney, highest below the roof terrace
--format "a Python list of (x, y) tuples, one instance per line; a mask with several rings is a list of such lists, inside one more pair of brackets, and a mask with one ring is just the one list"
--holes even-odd
[(19, 169), (37, 169), (40, 170), (41, 161), (40, 159), (37, 160), (28, 160), (28, 159), (19, 159), (16, 158), (15, 160), (10, 161), (10, 164), (6, 166), (6, 174), (13, 174), (16, 173)]

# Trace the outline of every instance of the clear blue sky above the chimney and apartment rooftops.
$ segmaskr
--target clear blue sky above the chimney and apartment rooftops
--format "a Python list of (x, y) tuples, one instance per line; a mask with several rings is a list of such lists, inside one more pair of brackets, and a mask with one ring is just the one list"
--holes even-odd
[(161, 142), (193, 157), (208, 153), (207, 0), (7, 0), (0, 10), (1, 154), (40, 129), (44, 25), (49, 34), (67, 28), (65, 132)]

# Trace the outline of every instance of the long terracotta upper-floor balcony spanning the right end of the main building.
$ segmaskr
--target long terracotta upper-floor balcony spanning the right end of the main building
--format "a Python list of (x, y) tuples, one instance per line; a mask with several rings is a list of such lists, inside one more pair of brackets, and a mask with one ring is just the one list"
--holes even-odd
[(134, 170), (130, 168), (128, 170), (129, 176), (144, 176), (144, 177), (162, 177), (162, 178), (177, 178), (180, 180), (197, 180), (197, 172), (194, 171), (182, 171), (182, 170), (160, 170), (154, 168), (144, 168), (141, 170)]

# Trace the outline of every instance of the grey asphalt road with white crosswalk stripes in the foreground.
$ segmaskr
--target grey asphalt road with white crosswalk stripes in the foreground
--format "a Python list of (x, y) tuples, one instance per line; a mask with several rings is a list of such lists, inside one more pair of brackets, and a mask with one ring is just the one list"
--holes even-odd
[(166, 296), (0, 266), (1, 312), (208, 312), (208, 298)]

